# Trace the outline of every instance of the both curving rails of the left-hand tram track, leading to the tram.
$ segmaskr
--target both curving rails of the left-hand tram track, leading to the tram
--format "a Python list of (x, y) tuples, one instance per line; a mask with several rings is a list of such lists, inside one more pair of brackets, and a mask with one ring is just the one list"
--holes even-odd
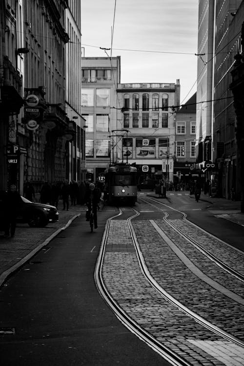
[[(204, 328), (208, 329), (209, 331), (213, 332), (214, 334), (218, 335), (219, 337), (223, 337), (225, 340), (234, 343), (240, 347), (244, 347), (244, 343), (239, 340), (238, 338), (234, 337), (233, 335), (225, 332), (218, 326), (215, 326), (211, 324), (210, 322), (203, 319), (198, 314), (191, 311), (189, 308), (181, 304), (179, 301), (177, 301), (173, 296), (171, 296), (169, 293), (167, 293), (159, 284), (158, 282), (151, 276), (145, 259), (142, 254), (142, 250), (140, 248), (140, 244), (137, 241), (136, 233), (133, 228), (132, 220), (139, 216), (140, 213), (135, 208), (133, 208), (134, 214), (130, 215), (127, 219), (127, 225), (128, 230), (130, 232), (131, 241), (134, 245), (138, 264), (141, 270), (141, 273), (146, 280), (146, 282), (156, 291), (158, 295), (160, 295), (166, 302), (173, 305), (177, 309), (179, 309), (181, 312), (186, 314), (188, 317), (191, 317), (191, 319), (194, 319), (195, 322), (197, 322), (199, 325), (202, 325)], [(133, 320), (126, 311), (120, 306), (120, 302), (118, 302), (116, 299), (114, 299), (114, 296), (111, 295), (110, 289), (107, 288), (107, 284), (105, 283), (103, 279), (103, 264), (104, 264), (104, 257), (106, 254), (106, 243), (109, 236), (109, 229), (110, 229), (110, 223), (113, 219), (118, 219), (119, 216), (122, 215), (122, 211), (119, 210), (119, 214), (111, 217), (107, 220), (103, 238), (102, 238), (102, 244), (101, 244), (101, 250), (98, 256), (98, 261), (96, 264), (95, 269), (95, 282), (97, 284), (97, 287), (102, 295), (102, 297), (106, 300), (108, 305), (111, 307), (111, 309), (114, 311), (116, 316), (119, 318), (119, 320), (124, 324), (130, 331), (132, 331), (134, 334), (136, 334), (141, 340), (143, 340), (145, 343), (148, 344), (148, 346), (152, 347), (156, 352), (162, 355), (163, 358), (165, 358), (167, 361), (169, 361), (172, 365), (176, 366), (186, 366), (191, 365), (187, 361), (185, 361), (182, 357), (179, 357), (179, 355), (176, 352), (172, 352), (172, 350), (169, 347), (165, 347), (161, 342), (157, 340), (154, 336), (150, 334), (150, 332), (145, 331), (143, 326), (138, 325), (138, 322), (136, 320)]]

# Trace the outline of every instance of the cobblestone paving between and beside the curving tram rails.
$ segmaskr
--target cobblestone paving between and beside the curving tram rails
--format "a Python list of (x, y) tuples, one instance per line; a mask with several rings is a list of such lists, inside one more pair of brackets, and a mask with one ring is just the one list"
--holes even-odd
[[(205, 320), (244, 340), (244, 306), (196, 277), (148, 220), (136, 220), (132, 223), (147, 268), (158, 284)], [(206, 258), (203, 260), (203, 255), (163, 220), (157, 220), (156, 223), (187, 255), (192, 264), (199, 266), (207, 276), (216, 282), (222, 282), (230, 290), (234, 291), (233, 288), (237, 287), (235, 292), (243, 295), (243, 283), (232, 279), (212, 261)], [(179, 220), (177, 225), (181, 224), (185, 225), (185, 222)], [(181, 228), (185, 230), (184, 227)], [(191, 234), (202, 243), (203, 232), (200, 236), (198, 229), (191, 226)], [(203, 242), (208, 242), (208, 239), (208, 249), (213, 250), (219, 245), (219, 248), (215, 248), (219, 253), (221, 244), (206, 237)], [(240, 252), (237, 255), (230, 247), (227, 251), (226, 254), (225, 248), (222, 248), (220, 255), (225, 260), (230, 255), (232, 266), (237, 260), (241, 271), (242, 259), (238, 258)], [(114, 220), (110, 224), (103, 278), (108, 291), (122, 309), (150, 335), (190, 365), (244, 365), (244, 348), (204, 328), (171, 305), (149, 285), (141, 273), (126, 221)]]

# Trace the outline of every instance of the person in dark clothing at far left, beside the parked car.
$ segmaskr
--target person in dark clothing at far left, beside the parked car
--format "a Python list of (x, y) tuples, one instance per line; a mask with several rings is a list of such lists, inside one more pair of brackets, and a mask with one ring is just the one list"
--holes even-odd
[(4, 209), (4, 237), (9, 237), (9, 232), (11, 237), (15, 235), (16, 229), (16, 218), (18, 210), (23, 204), (20, 197), (20, 193), (16, 190), (16, 185), (11, 184), (9, 190), (5, 193), (3, 197), (3, 209)]

